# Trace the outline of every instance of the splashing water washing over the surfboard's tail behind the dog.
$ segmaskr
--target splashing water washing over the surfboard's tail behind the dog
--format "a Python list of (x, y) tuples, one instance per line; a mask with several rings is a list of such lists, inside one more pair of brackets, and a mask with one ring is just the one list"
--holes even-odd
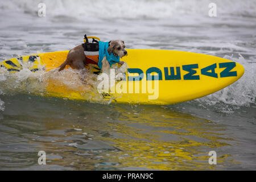
[[(65, 92), (78, 92), (89, 101), (94, 100), (105, 104), (111, 102), (105, 101), (104, 97), (97, 92), (97, 85), (100, 80), (97, 80), (98, 75), (93, 74), (88, 69), (68, 68), (59, 72), (56, 68), (46, 72), (41, 67), (39, 71), (31, 72), (28, 69), (29, 67), (31, 65), (22, 64), (23, 69), (15, 73), (0, 68), (0, 92), (9, 95), (35, 94), (47, 96), (51, 90), (63, 88)], [(112, 68), (115, 69), (115, 75), (118, 75), (119, 73), (125, 73), (128, 67), (127, 64), (123, 64), (121, 67), (113, 65)], [(59, 93), (53, 94), (59, 95)]]

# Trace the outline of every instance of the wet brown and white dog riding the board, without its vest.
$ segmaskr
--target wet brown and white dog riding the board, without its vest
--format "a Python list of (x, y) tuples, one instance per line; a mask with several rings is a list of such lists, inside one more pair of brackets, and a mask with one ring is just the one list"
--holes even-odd
[[(120, 57), (126, 56), (127, 51), (125, 50), (125, 42), (122, 40), (112, 40), (109, 42), (109, 48), (107, 49), (108, 53), (113, 53)], [(123, 61), (119, 61), (118, 64), (123, 65)], [(63, 64), (60, 65), (59, 71), (63, 70), (66, 65), (70, 65), (73, 69), (84, 69), (86, 63), (84, 48), (82, 45), (76, 46), (68, 52), (67, 59)], [(108, 72), (110, 69), (109, 61), (106, 60), (106, 56), (102, 59), (102, 72)]]

